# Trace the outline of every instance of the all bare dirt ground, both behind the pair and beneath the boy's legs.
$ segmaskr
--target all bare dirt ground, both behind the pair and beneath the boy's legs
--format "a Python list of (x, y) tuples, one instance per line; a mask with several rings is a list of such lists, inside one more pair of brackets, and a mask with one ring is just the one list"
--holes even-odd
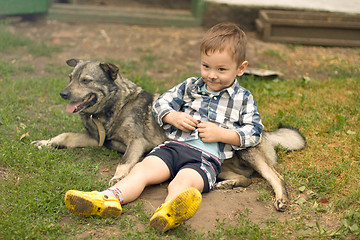
[[(157, 56), (156, 66), (163, 64), (164, 66), (172, 66), (173, 69), (166, 68), (164, 70), (161, 67), (156, 67), (149, 70), (147, 74), (160, 80), (166, 80), (175, 71), (188, 72), (189, 67), (194, 72), (199, 72), (199, 45), (205, 29), (202, 27), (140, 27), (104, 23), (81, 24), (42, 21), (14, 23), (11, 31), (33, 40), (42, 39), (47, 44), (62, 47), (62, 51), (54, 53), (51, 58), (19, 53), (14, 56), (16, 61), (33, 64), (37, 69), (36, 74), (39, 76), (47, 74), (44, 69), (48, 63), (65, 65), (67, 59), (74, 57), (87, 60), (138, 60), (143, 51), (151, 50)], [(352, 51), (348, 48), (312, 46), (299, 46), (290, 51), (289, 46), (285, 44), (262, 42), (257, 39), (254, 32), (248, 33), (248, 37), (247, 59), (250, 67), (267, 65), (273, 70), (281, 70), (286, 77), (291, 78), (305, 75), (326, 77), (319, 75), (313, 68), (316, 66), (319, 56), (346, 58), (351, 56), (349, 51)], [(266, 54), (269, 50), (278, 52), (280, 57)], [(291, 53), (282, 59), (281, 54), (285, 51)], [(66, 78), (67, 76), (64, 76), (64, 79)], [(110, 179), (113, 172), (101, 174)], [(215, 190), (205, 194), (198, 213), (188, 221), (188, 224), (196, 230), (213, 231), (217, 224), (216, 219), (233, 221), (235, 214), (245, 209), (251, 210), (249, 218), (254, 222), (259, 222), (270, 216), (279, 219), (291, 218), (288, 212), (276, 212), (271, 202), (258, 201), (258, 183), (264, 183), (264, 180), (255, 178), (254, 182), (247, 189)], [(264, 184), (261, 185), (264, 186)], [(140, 199), (146, 202), (145, 208), (148, 211), (154, 211), (161, 204), (165, 195), (166, 188), (156, 186), (146, 189)]]

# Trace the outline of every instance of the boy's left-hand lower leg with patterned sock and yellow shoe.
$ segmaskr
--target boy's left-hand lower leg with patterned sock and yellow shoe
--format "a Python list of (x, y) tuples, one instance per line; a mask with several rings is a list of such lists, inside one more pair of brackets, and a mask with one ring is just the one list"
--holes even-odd
[(123, 203), (134, 201), (146, 186), (162, 183), (169, 178), (167, 165), (159, 157), (148, 156), (112, 187), (116, 188), (121, 196), (116, 198), (96, 191), (70, 190), (65, 194), (65, 204), (70, 212), (79, 216), (117, 217), (122, 211), (119, 197)]

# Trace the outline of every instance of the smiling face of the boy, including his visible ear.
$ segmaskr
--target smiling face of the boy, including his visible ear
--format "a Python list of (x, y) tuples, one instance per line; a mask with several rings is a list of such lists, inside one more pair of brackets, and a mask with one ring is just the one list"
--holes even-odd
[(227, 50), (201, 53), (201, 76), (211, 92), (230, 87), (236, 76), (243, 75), (247, 65), (248, 62), (244, 61), (237, 66)]

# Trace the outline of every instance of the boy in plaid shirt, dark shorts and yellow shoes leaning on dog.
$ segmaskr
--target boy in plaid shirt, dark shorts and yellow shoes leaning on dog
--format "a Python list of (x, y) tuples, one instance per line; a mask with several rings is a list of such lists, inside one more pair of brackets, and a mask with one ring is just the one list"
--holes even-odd
[(80, 216), (116, 217), (121, 204), (146, 186), (172, 179), (168, 195), (150, 219), (165, 232), (191, 218), (220, 173), (221, 163), (239, 149), (259, 143), (263, 125), (243, 75), (246, 36), (231, 23), (212, 27), (201, 43), (201, 77), (189, 78), (157, 99), (153, 113), (171, 141), (154, 148), (130, 173), (103, 192), (70, 190), (65, 203)]

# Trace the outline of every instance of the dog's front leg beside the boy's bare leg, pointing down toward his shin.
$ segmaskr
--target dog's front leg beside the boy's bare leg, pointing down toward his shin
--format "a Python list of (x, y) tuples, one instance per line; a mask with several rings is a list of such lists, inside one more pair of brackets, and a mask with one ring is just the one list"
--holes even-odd
[(136, 163), (140, 162), (145, 153), (145, 143), (141, 139), (135, 139), (130, 142), (126, 148), (122, 163), (116, 167), (114, 177), (111, 178), (109, 185), (113, 186), (124, 178)]

